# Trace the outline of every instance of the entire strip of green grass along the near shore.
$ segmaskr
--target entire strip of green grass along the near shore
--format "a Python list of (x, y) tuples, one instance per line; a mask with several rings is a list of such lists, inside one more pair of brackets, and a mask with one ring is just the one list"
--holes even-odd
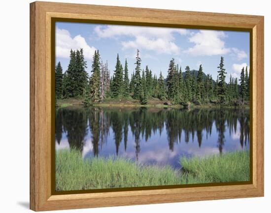
[(249, 181), (249, 151), (180, 158), (182, 170), (137, 165), (117, 157), (84, 160), (75, 150), (56, 152), (56, 190)]

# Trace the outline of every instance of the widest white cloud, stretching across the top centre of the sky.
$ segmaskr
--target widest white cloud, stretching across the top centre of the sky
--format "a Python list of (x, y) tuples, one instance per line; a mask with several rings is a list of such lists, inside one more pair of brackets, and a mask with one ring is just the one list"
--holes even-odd
[(95, 32), (100, 38), (115, 38), (129, 36), (131, 40), (122, 41), (124, 49), (138, 48), (154, 51), (157, 54), (180, 53), (180, 47), (174, 43), (173, 33), (188, 34), (188, 30), (174, 28), (150, 28), (134, 26), (97, 26)]

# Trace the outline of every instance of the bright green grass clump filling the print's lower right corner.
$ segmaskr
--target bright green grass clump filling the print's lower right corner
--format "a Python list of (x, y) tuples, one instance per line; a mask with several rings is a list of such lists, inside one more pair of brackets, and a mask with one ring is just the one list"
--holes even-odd
[(208, 157), (180, 158), (185, 183), (227, 183), (249, 181), (249, 151)]

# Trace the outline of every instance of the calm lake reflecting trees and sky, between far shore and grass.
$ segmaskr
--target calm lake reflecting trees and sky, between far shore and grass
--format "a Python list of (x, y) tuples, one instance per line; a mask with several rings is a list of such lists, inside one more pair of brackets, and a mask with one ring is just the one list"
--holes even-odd
[(180, 156), (249, 149), (249, 110), (70, 106), (56, 109), (55, 149), (180, 168)]

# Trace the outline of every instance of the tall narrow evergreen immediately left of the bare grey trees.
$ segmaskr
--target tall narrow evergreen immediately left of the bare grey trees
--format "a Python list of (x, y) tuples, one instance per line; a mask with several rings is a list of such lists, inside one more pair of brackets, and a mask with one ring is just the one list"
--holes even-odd
[(89, 94), (92, 102), (100, 100), (101, 96), (101, 70), (100, 70), (100, 54), (99, 50), (95, 51), (92, 62), (92, 76), (89, 81)]

